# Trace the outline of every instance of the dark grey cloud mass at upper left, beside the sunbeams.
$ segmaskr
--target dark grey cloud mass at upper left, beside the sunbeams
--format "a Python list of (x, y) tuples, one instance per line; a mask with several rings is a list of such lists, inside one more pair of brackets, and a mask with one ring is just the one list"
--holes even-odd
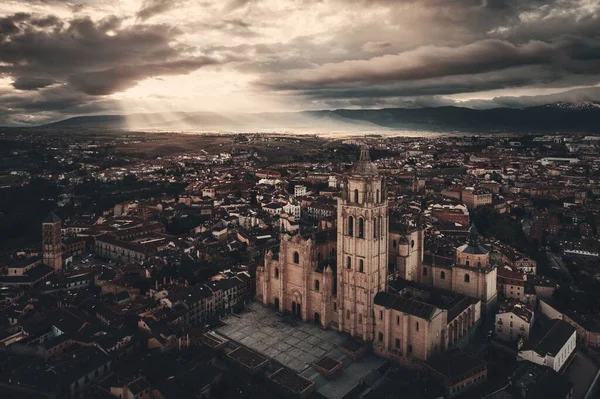
[[(181, 31), (164, 24), (128, 24), (108, 16), (61, 20), (14, 14), (0, 20), (0, 76), (21, 91), (0, 95), (0, 115), (105, 109), (102, 98), (156, 76), (190, 73), (218, 63), (191, 55)], [(56, 88), (54, 88), (56, 86)], [(27, 93), (27, 94), (25, 94)], [(0, 116), (1, 118), (1, 116)]]

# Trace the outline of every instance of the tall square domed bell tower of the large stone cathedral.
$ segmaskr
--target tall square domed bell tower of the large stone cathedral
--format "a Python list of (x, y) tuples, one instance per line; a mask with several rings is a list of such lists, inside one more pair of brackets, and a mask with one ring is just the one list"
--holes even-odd
[(388, 204), (383, 179), (366, 146), (345, 177), (337, 212), (338, 327), (372, 341), (373, 300), (388, 281)]

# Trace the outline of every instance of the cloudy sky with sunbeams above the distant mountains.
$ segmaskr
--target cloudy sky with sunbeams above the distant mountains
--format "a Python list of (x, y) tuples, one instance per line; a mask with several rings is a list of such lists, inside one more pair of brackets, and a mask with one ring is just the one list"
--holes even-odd
[(600, 101), (600, 0), (3, 0), (0, 125)]

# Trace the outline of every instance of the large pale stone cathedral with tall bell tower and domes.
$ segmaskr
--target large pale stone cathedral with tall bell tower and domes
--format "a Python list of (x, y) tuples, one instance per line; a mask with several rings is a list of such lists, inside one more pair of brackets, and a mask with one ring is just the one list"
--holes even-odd
[(493, 306), (496, 269), (475, 228), (456, 251), (436, 263), (424, 256), (420, 223), (389, 225), (385, 183), (363, 147), (342, 184), (337, 227), (282, 235), (257, 268), (256, 299), (412, 364), (466, 344)]

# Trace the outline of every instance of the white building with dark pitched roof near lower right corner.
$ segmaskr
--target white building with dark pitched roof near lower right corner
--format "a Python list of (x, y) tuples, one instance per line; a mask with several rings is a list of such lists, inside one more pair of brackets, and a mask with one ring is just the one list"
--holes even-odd
[(560, 319), (551, 320), (543, 333), (533, 336), (521, 346), (517, 360), (547, 366), (558, 372), (575, 352), (577, 330)]

